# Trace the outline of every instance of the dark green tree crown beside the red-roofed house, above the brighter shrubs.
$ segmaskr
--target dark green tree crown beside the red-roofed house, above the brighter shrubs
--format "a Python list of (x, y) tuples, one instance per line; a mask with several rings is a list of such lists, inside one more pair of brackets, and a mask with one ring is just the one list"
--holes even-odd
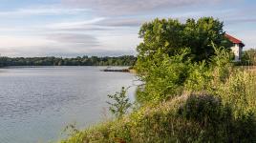
[(143, 42), (139, 44), (139, 58), (152, 57), (157, 51), (175, 55), (183, 48), (188, 48), (193, 61), (208, 61), (214, 55), (211, 42), (218, 47), (231, 47), (225, 38), (224, 24), (212, 17), (199, 20), (187, 19), (185, 23), (174, 19), (155, 19), (141, 26), (139, 37)]

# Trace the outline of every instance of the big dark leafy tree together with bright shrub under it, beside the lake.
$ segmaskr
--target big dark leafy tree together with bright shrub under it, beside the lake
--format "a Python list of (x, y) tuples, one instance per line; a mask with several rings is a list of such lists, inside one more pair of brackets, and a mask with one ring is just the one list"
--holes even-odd
[(199, 81), (204, 78), (191, 78), (201, 73), (207, 76), (205, 67), (213, 66), (211, 61), (217, 54), (216, 49), (224, 49), (229, 54), (231, 45), (224, 37), (223, 26), (223, 22), (212, 17), (188, 19), (184, 24), (173, 19), (143, 24), (139, 31), (143, 42), (137, 48), (136, 68), (146, 84), (143, 92), (139, 92), (139, 99), (158, 102), (181, 94), (191, 84), (205, 83)]

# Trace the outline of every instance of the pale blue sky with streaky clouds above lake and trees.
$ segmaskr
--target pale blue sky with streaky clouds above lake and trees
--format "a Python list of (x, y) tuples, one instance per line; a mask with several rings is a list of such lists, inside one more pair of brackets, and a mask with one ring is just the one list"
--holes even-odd
[(255, 0), (0, 0), (2, 56), (137, 54), (146, 21), (213, 16), (256, 48)]

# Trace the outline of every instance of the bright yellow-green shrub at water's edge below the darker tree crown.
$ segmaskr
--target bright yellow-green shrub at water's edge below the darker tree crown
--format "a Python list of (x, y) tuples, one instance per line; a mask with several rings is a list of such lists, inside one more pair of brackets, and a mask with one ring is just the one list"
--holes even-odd
[(140, 103), (159, 102), (181, 94), (191, 70), (190, 60), (186, 58), (189, 53), (185, 49), (169, 57), (158, 51), (154, 54), (154, 60), (145, 58), (142, 64), (138, 63), (139, 77), (145, 82), (137, 94)]

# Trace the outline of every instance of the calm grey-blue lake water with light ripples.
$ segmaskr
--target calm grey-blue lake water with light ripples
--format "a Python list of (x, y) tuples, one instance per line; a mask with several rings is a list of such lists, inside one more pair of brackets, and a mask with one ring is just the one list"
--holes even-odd
[[(102, 121), (107, 94), (132, 86), (135, 75), (100, 69), (0, 69), (0, 142), (55, 141), (66, 125), (84, 128)], [(129, 91), (132, 99), (134, 91)]]

